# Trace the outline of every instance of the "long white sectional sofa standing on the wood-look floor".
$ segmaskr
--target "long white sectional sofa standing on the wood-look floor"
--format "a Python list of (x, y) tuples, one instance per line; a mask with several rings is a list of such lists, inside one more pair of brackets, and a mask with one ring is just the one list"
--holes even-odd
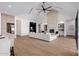
[(45, 34), (45, 33), (30, 32), (29, 36), (33, 37), (33, 38), (38, 38), (38, 39), (41, 39), (41, 40), (45, 40), (45, 41), (52, 41), (52, 40), (57, 39), (57, 35), (55, 35), (55, 34), (51, 35), (50, 33)]

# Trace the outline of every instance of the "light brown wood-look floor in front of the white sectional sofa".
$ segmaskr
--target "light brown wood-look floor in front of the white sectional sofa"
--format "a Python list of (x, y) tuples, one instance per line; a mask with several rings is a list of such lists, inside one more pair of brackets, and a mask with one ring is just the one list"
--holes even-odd
[(75, 56), (76, 43), (71, 37), (58, 37), (46, 42), (28, 36), (17, 37), (14, 52), (16, 56)]

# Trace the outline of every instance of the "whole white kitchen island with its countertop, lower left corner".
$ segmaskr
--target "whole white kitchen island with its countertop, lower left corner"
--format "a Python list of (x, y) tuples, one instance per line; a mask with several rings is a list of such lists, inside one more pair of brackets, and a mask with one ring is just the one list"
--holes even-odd
[(14, 46), (14, 40), (14, 35), (0, 36), (0, 56), (10, 56), (10, 48)]

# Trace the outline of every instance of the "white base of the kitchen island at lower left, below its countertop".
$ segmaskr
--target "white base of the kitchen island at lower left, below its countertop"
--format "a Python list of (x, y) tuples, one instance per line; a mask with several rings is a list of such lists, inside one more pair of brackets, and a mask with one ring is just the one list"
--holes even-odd
[(10, 40), (0, 39), (0, 56), (10, 56)]

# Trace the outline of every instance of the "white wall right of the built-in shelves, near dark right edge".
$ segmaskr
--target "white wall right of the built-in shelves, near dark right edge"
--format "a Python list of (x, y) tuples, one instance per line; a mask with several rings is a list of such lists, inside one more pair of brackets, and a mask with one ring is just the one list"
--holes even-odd
[[(64, 16), (64, 15), (63, 15)], [(75, 36), (75, 19), (66, 19), (65, 18), (59, 18), (59, 22), (64, 23), (64, 36), (72, 35)]]

